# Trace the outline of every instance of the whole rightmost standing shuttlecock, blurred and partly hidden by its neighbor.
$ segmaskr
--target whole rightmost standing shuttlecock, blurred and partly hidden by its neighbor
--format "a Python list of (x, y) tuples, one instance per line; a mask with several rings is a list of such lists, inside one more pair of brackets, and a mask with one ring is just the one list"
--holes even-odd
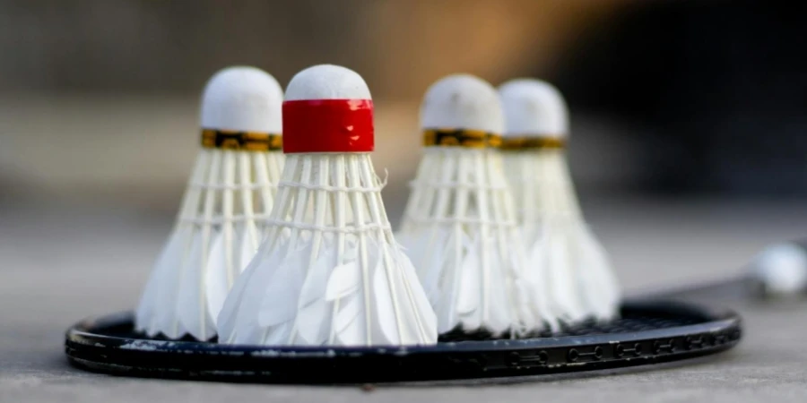
[(602, 245), (586, 226), (568, 172), (566, 104), (551, 84), (532, 79), (499, 88), (508, 128), (505, 170), (530, 263), (541, 268), (553, 311), (568, 322), (618, 314), (620, 287)]

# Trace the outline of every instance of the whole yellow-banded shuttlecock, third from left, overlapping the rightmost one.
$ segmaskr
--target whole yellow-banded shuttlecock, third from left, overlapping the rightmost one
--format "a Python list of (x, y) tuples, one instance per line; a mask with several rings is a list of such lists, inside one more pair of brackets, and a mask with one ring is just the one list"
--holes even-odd
[(434, 83), (421, 105), (424, 155), (398, 237), (438, 315), (438, 331), (517, 337), (556, 323), (525, 281), (525, 249), (501, 156), (496, 90), (465, 74)]

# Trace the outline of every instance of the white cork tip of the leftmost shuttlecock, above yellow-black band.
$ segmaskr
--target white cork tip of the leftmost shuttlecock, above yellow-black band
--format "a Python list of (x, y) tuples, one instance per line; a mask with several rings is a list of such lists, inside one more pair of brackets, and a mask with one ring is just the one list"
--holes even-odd
[(234, 66), (213, 74), (202, 94), (205, 129), (281, 133), (283, 90), (256, 67)]

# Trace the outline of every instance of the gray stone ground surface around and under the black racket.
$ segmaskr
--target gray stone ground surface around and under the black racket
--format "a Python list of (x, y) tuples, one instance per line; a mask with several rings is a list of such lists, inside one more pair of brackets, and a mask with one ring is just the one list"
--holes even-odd
[[(475, 387), (287, 387), (141, 380), (70, 367), (64, 331), (132, 307), (171, 218), (92, 206), (0, 205), (0, 401), (803, 402), (807, 304), (712, 298), (745, 319), (733, 351), (659, 368)], [(797, 204), (598, 201), (595, 231), (631, 293), (724, 279), (807, 232)], [(596, 376), (595, 376), (596, 375)]]

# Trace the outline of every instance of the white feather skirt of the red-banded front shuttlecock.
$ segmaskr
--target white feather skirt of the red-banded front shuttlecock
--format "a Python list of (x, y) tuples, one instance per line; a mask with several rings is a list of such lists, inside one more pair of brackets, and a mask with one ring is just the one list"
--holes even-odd
[(369, 154), (287, 156), (272, 226), (218, 317), (232, 344), (437, 342), (437, 320), (395, 243)]

